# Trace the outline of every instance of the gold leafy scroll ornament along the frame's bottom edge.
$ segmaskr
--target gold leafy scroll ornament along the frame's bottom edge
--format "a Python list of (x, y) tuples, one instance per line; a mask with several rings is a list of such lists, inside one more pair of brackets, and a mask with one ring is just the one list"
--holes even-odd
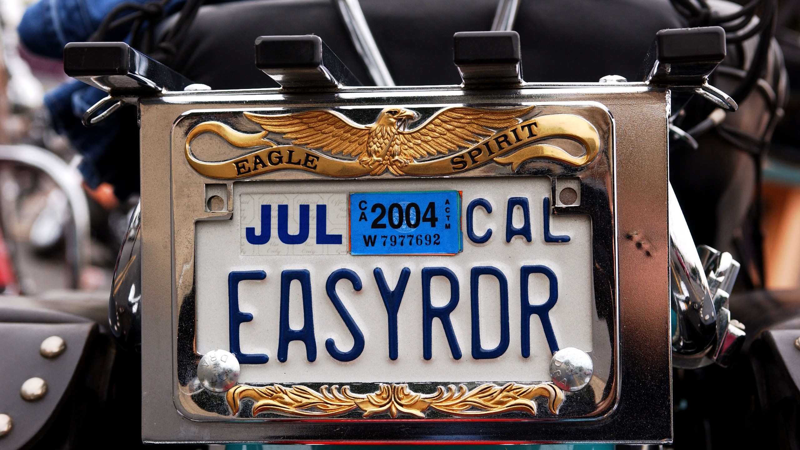
[(226, 398), (231, 411), (238, 414), (242, 399), (254, 400), (253, 416), (262, 412), (280, 412), (291, 416), (331, 417), (356, 409), (364, 417), (400, 413), (425, 417), (433, 409), (452, 416), (490, 416), (502, 412), (521, 411), (536, 416), (534, 398), (547, 397), (547, 407), (553, 414), (564, 401), (564, 392), (552, 383), (535, 385), (508, 383), (482, 384), (471, 391), (464, 384), (439, 386), (433, 394), (410, 391), (408, 384), (381, 384), (377, 392), (354, 394), (349, 386), (322, 386), (319, 392), (302, 385), (291, 387), (273, 384), (253, 387), (239, 384), (231, 388)]

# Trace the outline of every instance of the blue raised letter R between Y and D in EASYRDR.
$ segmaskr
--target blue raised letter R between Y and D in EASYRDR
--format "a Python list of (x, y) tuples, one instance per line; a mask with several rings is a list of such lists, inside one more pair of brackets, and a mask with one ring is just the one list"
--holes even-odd
[[(434, 276), (443, 276), (450, 281), (450, 301), (445, 306), (434, 307), (430, 303), (430, 279)], [(453, 353), (454, 360), (461, 359), (461, 348), (458, 347), (458, 340), (455, 338), (453, 323), (450, 322), (450, 313), (458, 306), (458, 278), (453, 271), (447, 267), (424, 267), (422, 269), (422, 357), (430, 360), (431, 347), (431, 328), (434, 325), (434, 317), (438, 317), (445, 329), (447, 344), (450, 344), (450, 352)]]

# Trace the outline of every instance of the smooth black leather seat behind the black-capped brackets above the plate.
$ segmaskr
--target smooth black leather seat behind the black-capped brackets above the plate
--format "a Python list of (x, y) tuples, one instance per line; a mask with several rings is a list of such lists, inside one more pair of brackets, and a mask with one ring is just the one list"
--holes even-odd
[[(458, 84), (453, 34), (489, 30), (496, 0), (362, 0), (362, 10), (398, 85)], [(174, 20), (165, 23), (171, 26)], [(523, 74), (529, 82), (633, 81), (655, 33), (686, 26), (668, 0), (522, 2)], [(254, 66), (261, 35), (317, 34), (365, 85), (374, 84), (330, 0), (251, 0), (203, 6), (172, 66), (214, 89), (277, 86)]]

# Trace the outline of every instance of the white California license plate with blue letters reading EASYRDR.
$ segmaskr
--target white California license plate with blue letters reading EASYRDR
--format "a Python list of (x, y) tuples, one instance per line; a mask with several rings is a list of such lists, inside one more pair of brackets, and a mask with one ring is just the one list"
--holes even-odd
[(234, 184), (197, 225), (198, 352), (245, 384), (533, 383), (592, 352), (590, 219), (552, 215), (550, 179), (407, 185)]

